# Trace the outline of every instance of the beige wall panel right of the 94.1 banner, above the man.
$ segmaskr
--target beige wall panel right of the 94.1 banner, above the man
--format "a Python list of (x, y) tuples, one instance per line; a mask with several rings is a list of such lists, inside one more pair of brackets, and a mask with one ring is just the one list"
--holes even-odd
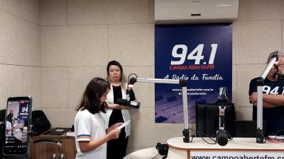
[(280, 20), (236, 21), (233, 25), (233, 64), (266, 63), (269, 53), (281, 50), (280, 33)]

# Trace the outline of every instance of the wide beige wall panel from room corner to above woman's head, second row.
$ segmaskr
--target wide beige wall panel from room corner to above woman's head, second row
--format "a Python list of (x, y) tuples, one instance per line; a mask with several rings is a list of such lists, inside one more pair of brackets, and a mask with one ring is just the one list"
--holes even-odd
[(107, 25), (41, 28), (43, 66), (103, 66), (108, 61)]

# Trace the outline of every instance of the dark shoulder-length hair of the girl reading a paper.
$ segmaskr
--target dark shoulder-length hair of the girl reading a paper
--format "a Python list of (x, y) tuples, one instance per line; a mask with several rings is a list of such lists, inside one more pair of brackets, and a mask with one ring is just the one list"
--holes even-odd
[(104, 107), (107, 104), (103, 102), (103, 104), (100, 105), (99, 98), (107, 92), (108, 88), (110, 89), (109, 83), (103, 78), (92, 78), (86, 90), (84, 90), (82, 100), (76, 110), (79, 111), (82, 108), (82, 110), (88, 110), (92, 114), (98, 113), (99, 111), (106, 112)]

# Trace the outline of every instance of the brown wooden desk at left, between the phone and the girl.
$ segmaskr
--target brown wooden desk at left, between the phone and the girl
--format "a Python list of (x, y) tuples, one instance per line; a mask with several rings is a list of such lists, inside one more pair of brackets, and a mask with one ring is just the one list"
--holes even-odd
[[(33, 143), (38, 139), (53, 139), (62, 141), (61, 152), (59, 146), (53, 143)], [(62, 154), (64, 159), (75, 159), (76, 146), (74, 136), (39, 135), (31, 137), (30, 157), (33, 159), (50, 159), (54, 154)]]

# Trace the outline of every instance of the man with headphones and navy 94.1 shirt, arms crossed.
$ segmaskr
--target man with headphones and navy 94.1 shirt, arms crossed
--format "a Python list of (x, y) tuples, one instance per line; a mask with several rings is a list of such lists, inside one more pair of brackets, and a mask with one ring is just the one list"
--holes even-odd
[[(275, 56), (278, 57), (278, 61), (276, 60), (263, 83), (263, 120), (267, 121), (266, 135), (277, 133), (279, 136), (284, 135), (284, 53), (271, 53), (268, 62)], [(256, 78), (253, 78), (249, 85), (249, 100), (253, 104), (253, 120), (256, 120)]]

